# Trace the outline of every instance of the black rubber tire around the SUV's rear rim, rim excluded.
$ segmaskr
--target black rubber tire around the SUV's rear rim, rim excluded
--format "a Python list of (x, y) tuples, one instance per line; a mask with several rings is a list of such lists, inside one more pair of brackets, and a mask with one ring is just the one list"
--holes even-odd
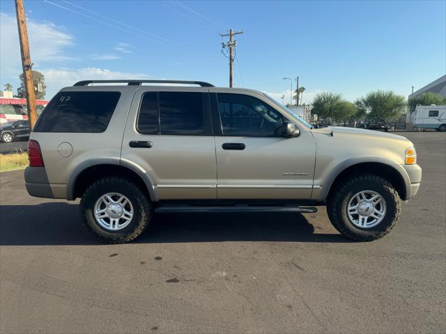
[[(95, 203), (106, 193), (121, 193), (132, 203), (132, 220), (122, 230), (107, 230), (95, 219)], [(105, 177), (86, 189), (79, 204), (79, 213), (82, 225), (93, 237), (106, 244), (124, 244), (136, 239), (147, 228), (152, 217), (152, 205), (146, 194), (132, 181), (124, 177)]]

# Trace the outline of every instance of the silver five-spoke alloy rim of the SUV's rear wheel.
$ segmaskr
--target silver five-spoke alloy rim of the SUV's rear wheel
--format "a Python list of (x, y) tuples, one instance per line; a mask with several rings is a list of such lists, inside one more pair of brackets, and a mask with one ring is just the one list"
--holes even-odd
[(133, 205), (121, 193), (106, 193), (95, 204), (95, 219), (102, 228), (118, 231), (125, 228), (133, 218)]

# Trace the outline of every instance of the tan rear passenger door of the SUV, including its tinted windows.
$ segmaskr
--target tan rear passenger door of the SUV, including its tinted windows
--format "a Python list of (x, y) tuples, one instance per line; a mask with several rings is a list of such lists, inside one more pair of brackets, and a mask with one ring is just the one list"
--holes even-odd
[(206, 88), (141, 87), (121, 161), (143, 168), (160, 200), (217, 198), (215, 141)]

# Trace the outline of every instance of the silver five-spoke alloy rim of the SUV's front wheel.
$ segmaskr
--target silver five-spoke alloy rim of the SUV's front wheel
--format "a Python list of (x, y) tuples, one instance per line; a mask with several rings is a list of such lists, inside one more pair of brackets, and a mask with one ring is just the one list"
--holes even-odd
[(373, 228), (383, 221), (385, 200), (376, 191), (364, 190), (348, 202), (348, 219), (358, 228)]

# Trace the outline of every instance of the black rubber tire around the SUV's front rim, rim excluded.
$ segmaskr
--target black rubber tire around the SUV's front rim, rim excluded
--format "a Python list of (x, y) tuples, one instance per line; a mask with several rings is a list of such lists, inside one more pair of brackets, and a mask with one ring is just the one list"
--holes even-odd
[[(354, 225), (347, 214), (348, 202), (360, 191), (370, 190), (382, 196), (386, 205), (385, 216), (372, 228), (360, 228)], [(328, 198), (327, 213), (334, 228), (345, 237), (354, 241), (372, 241), (380, 239), (390, 232), (399, 219), (401, 198), (394, 186), (373, 174), (356, 175), (333, 189)]]

